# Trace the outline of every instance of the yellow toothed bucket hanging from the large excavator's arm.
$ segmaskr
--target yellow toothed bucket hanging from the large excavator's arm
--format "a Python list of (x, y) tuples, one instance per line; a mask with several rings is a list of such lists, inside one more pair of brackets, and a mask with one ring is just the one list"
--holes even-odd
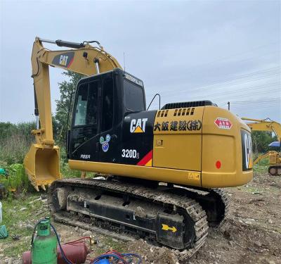
[(60, 149), (58, 146), (32, 144), (25, 156), (25, 172), (34, 188), (46, 190), (53, 181), (61, 179)]

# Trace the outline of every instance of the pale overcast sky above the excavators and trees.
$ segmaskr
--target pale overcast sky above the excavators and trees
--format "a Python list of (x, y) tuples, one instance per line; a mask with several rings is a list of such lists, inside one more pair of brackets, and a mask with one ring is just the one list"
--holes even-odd
[[(281, 121), (281, 1), (0, 0), (0, 122), (34, 120), (34, 37), (98, 40), (162, 105), (209, 99)], [(47, 46), (58, 49), (57, 46)], [(62, 70), (51, 68), (53, 113)], [(154, 108), (157, 107), (155, 103)]]

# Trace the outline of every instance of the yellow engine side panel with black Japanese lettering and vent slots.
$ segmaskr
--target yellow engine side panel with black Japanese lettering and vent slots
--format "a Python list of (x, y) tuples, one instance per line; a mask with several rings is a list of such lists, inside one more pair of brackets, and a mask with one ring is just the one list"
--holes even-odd
[(153, 166), (201, 171), (204, 107), (158, 111)]

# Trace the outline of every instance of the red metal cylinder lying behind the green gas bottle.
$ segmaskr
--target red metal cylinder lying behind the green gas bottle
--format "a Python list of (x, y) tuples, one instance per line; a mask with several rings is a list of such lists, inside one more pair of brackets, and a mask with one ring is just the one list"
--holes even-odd
[[(86, 257), (89, 254), (89, 249), (86, 246), (84, 241), (70, 242), (69, 244), (64, 244), (63, 251), (65, 256), (72, 263), (82, 264), (85, 263)], [(60, 253), (60, 247), (57, 248), (58, 252), (58, 264), (65, 264), (62, 253)], [(32, 264), (31, 261), (31, 252), (25, 251), (22, 254), (22, 264)]]

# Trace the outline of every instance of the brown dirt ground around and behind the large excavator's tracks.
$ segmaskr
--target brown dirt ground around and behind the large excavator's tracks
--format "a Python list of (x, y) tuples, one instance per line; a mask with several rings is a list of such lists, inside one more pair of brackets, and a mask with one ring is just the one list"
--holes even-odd
[[(122, 241), (77, 227), (54, 225), (63, 243), (83, 235), (93, 235), (96, 244), (91, 246), (91, 256), (112, 247), (124, 253), (140, 254), (143, 263), (281, 263), (281, 177), (255, 173), (254, 180), (248, 185), (226, 191), (230, 196), (230, 212), (226, 221), (218, 229), (209, 230), (207, 242), (191, 258), (185, 252), (158, 248), (146, 241)], [(0, 263), (21, 263), (20, 254), (9, 258), (1, 254), (9, 246), (11, 244), (0, 244)]]

